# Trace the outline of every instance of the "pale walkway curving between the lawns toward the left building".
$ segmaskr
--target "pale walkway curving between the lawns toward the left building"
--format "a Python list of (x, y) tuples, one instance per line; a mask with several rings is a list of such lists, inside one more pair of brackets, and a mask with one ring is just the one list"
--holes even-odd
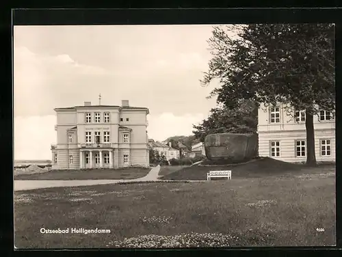
[(135, 179), (101, 179), (101, 180), (14, 180), (14, 191), (31, 190), (48, 187), (79, 187), (90, 185), (116, 184), (119, 182), (146, 182), (157, 181), (160, 166), (153, 167), (148, 174), (142, 178)]

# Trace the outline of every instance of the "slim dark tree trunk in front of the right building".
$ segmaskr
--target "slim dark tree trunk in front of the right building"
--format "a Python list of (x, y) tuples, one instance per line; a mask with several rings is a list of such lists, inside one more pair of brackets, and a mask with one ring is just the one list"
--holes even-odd
[(306, 165), (313, 167), (317, 165), (316, 154), (315, 154), (315, 129), (313, 128), (313, 114), (311, 111), (306, 109)]

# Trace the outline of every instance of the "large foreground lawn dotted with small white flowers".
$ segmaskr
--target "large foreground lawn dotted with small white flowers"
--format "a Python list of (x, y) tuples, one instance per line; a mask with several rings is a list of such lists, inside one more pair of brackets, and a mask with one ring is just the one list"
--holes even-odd
[[(335, 244), (334, 169), (14, 192), (18, 248)], [(110, 233), (42, 234), (40, 229)], [(322, 231), (324, 230), (324, 231)]]

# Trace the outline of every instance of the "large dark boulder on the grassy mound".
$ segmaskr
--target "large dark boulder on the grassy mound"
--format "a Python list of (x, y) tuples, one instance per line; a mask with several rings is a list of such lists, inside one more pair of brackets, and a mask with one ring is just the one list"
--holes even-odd
[(205, 155), (211, 161), (239, 163), (258, 155), (257, 134), (220, 133), (205, 137)]

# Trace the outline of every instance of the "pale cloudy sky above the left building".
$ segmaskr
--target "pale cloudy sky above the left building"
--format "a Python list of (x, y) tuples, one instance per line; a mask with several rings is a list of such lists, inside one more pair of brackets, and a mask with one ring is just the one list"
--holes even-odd
[(200, 85), (212, 25), (15, 26), (14, 159), (51, 159), (55, 107), (148, 107), (148, 136), (192, 135), (215, 107)]

